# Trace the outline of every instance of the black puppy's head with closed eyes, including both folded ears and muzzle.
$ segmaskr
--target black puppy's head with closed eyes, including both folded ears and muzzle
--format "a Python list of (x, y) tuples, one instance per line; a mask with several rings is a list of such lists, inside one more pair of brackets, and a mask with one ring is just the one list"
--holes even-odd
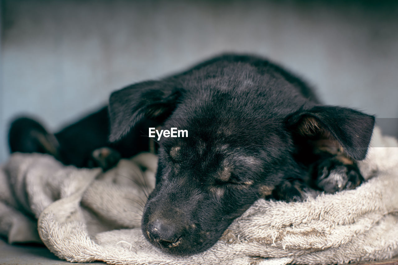
[(111, 141), (144, 118), (157, 119), (164, 130), (188, 131), (188, 137), (158, 141), (156, 187), (142, 216), (144, 235), (168, 253), (213, 246), (254, 201), (301, 174), (292, 157), (292, 131), (311, 137), (322, 128), (356, 159), (365, 157), (371, 137), (373, 117), (352, 109), (303, 107), (305, 101), (291, 93), (283, 98), (214, 85), (186, 89), (149, 81), (110, 97)]

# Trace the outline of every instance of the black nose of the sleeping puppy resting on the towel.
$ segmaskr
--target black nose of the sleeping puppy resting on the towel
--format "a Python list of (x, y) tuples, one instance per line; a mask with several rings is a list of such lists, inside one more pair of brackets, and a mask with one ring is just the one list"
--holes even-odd
[(155, 219), (148, 223), (148, 236), (161, 247), (174, 247), (181, 238), (181, 231), (170, 221)]

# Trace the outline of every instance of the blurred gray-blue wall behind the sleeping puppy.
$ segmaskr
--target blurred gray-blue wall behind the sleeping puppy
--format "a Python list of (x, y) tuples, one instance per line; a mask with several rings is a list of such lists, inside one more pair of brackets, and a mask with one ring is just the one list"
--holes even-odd
[(222, 51), (269, 57), (398, 135), (396, 2), (3, 0), (0, 162), (15, 115), (57, 130), (113, 90)]

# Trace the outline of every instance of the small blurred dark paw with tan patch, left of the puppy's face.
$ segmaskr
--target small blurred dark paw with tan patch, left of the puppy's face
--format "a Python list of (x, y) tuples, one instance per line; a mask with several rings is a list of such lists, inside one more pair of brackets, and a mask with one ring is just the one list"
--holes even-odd
[(88, 162), (90, 168), (100, 167), (103, 171), (116, 166), (121, 155), (116, 150), (109, 147), (102, 147), (94, 150)]

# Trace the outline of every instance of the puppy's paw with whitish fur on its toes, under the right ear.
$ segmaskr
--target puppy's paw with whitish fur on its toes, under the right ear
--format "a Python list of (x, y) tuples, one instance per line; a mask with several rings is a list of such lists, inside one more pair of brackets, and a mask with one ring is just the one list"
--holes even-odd
[(336, 157), (328, 158), (317, 166), (316, 186), (326, 193), (355, 189), (365, 181), (357, 164), (344, 164)]

